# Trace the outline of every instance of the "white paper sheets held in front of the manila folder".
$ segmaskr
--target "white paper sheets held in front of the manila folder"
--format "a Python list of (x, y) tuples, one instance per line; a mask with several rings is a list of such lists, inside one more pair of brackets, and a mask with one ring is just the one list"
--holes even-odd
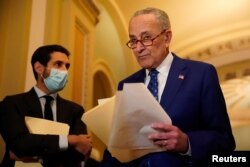
[[(148, 135), (154, 122), (171, 124), (171, 119), (144, 84), (125, 84), (117, 94), (108, 147), (123, 149), (157, 148)], [(126, 140), (124, 140), (126, 139)]]

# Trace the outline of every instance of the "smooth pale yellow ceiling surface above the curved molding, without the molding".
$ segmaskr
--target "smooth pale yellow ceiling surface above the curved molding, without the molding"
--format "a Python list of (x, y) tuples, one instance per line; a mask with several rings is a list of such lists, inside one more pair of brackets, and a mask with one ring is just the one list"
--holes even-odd
[(138, 9), (166, 11), (174, 32), (173, 43), (182, 49), (190, 43), (250, 26), (249, 0), (114, 0), (126, 23)]

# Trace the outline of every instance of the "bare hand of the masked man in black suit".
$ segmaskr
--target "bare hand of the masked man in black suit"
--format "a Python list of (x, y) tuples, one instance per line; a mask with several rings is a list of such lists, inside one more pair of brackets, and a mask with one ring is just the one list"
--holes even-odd
[(86, 157), (90, 156), (92, 150), (92, 140), (89, 135), (69, 135), (68, 142), (70, 146), (74, 147)]

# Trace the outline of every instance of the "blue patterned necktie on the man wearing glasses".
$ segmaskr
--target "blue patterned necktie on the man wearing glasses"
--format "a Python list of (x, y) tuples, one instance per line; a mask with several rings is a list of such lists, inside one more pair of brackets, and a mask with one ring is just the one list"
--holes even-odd
[(158, 73), (159, 72), (156, 69), (152, 69), (149, 72), (150, 81), (148, 84), (149, 91), (152, 93), (152, 95), (155, 97), (157, 101), (158, 101), (158, 79), (157, 79)]

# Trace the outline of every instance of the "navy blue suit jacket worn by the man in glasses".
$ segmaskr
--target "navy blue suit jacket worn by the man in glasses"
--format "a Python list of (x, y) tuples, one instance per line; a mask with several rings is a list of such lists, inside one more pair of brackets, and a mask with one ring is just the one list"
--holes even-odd
[[(118, 89), (121, 90), (124, 83), (144, 82), (145, 75), (144, 69), (139, 70), (121, 81)], [(203, 161), (211, 159), (211, 154), (234, 150), (235, 141), (224, 97), (212, 65), (174, 55), (160, 104), (173, 125), (188, 135), (192, 156), (166, 151), (121, 165), (106, 151), (102, 167), (202, 166), (201, 163), (206, 163)]]

